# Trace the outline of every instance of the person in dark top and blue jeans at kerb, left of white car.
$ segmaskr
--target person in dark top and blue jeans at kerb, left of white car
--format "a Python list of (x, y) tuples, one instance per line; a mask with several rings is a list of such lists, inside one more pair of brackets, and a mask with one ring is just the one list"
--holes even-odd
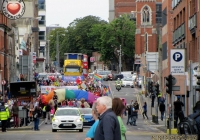
[(39, 131), (39, 122), (40, 117), (42, 115), (42, 109), (39, 106), (35, 106), (33, 111), (33, 118), (34, 118), (34, 130)]

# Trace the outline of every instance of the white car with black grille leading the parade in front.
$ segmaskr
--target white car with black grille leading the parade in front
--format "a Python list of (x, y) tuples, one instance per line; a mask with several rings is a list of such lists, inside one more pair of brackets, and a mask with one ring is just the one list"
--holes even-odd
[(78, 108), (58, 108), (52, 119), (52, 132), (57, 130), (79, 130), (83, 132), (83, 118)]

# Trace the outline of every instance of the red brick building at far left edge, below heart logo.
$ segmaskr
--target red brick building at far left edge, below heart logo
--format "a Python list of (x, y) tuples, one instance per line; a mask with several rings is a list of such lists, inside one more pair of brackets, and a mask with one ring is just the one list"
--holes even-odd
[(8, 80), (8, 32), (11, 30), (9, 20), (0, 12), (0, 70), (2, 79)]

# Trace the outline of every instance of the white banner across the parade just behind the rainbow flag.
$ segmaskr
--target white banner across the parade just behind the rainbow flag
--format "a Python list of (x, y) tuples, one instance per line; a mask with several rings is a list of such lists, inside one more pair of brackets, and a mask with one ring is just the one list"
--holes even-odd
[(78, 86), (41, 86), (41, 93), (48, 94), (50, 91), (56, 90), (56, 89), (68, 89), (68, 90), (78, 90)]

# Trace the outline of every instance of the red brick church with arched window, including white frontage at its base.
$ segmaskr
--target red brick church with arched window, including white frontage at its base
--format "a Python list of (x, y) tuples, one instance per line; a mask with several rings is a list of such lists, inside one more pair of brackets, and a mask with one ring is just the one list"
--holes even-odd
[(134, 71), (144, 77), (145, 84), (145, 77), (151, 77), (151, 72), (158, 72), (159, 69), (158, 37), (162, 23), (162, 1), (115, 0), (114, 4), (115, 18), (126, 13), (136, 23)]

